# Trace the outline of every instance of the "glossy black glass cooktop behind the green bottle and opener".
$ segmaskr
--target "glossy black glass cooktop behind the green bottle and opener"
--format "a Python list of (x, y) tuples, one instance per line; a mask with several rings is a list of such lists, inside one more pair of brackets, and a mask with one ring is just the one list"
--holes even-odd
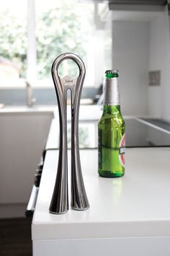
[[(158, 147), (170, 146), (170, 131), (149, 119), (125, 118), (126, 147)], [(97, 149), (98, 146), (98, 120), (79, 120), (79, 148)], [(51, 129), (50, 129), (51, 130)], [(45, 150), (59, 148), (59, 123), (52, 125), (53, 136), (48, 139)], [(57, 132), (58, 131), (58, 132)], [(68, 149), (71, 149), (71, 123), (68, 122)]]

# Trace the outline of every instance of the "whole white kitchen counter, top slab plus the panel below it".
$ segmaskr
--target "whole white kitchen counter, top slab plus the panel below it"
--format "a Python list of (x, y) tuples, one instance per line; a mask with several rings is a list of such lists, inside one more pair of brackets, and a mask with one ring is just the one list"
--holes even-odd
[(58, 150), (48, 150), (32, 220), (34, 256), (170, 255), (169, 156), (168, 147), (127, 149), (125, 176), (108, 179), (97, 174), (97, 149), (81, 149), (90, 208), (54, 215)]

